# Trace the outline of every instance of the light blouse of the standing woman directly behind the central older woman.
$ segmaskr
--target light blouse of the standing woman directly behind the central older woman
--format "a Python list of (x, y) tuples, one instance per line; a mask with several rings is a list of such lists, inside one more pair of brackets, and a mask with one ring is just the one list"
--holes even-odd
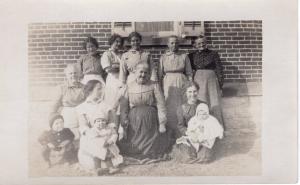
[(141, 62), (146, 62), (150, 66), (151, 76), (150, 79), (157, 81), (157, 71), (155, 70), (154, 63), (150, 59), (150, 53), (144, 52), (142, 50), (130, 49), (122, 55), (121, 67), (120, 67), (120, 81), (122, 83), (130, 83), (135, 80), (135, 69), (137, 64)]

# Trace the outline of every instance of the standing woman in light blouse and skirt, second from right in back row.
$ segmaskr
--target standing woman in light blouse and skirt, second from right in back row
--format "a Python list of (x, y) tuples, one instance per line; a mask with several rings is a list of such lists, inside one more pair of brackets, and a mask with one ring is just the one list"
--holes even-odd
[(168, 51), (160, 58), (158, 74), (167, 104), (168, 126), (176, 139), (179, 137), (176, 110), (183, 103), (182, 88), (188, 80), (192, 81), (193, 74), (189, 58), (178, 51), (177, 36), (169, 37)]

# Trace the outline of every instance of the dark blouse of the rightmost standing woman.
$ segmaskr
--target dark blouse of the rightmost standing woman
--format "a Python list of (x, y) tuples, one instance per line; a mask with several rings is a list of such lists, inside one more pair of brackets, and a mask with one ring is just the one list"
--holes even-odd
[(216, 51), (205, 49), (203, 51), (194, 51), (188, 56), (194, 71), (197, 71), (198, 69), (214, 70), (217, 75), (220, 88), (222, 88), (224, 80), (223, 66), (220, 56)]

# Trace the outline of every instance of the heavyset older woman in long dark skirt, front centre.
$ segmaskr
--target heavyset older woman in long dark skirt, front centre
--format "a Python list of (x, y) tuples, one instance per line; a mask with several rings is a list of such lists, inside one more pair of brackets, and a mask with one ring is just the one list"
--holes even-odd
[(165, 101), (160, 86), (149, 80), (149, 69), (147, 63), (136, 66), (136, 80), (127, 85), (121, 104), (127, 139), (120, 150), (140, 164), (161, 160), (168, 149)]

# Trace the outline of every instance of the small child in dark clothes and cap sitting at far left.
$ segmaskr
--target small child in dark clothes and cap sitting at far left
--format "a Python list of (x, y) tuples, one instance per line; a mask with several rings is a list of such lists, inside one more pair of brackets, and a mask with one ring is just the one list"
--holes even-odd
[(64, 128), (64, 119), (59, 114), (53, 114), (49, 119), (50, 130), (44, 131), (39, 137), (43, 145), (42, 155), (48, 167), (58, 163), (71, 163), (76, 156), (73, 145), (74, 134)]

